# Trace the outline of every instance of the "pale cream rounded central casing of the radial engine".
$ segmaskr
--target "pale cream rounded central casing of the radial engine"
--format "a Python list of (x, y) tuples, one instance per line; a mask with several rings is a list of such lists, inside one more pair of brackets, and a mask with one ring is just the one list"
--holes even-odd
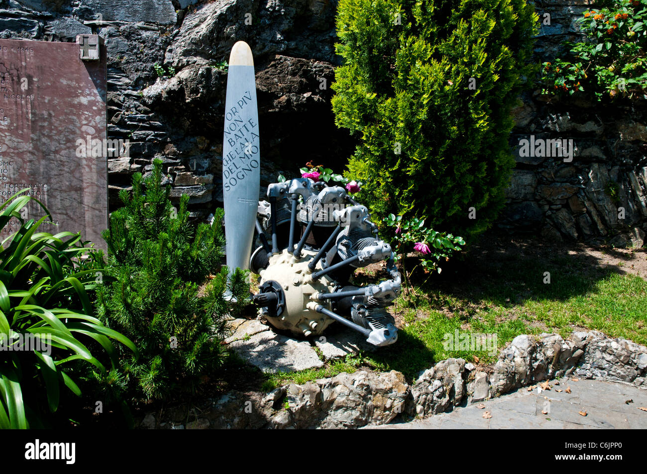
[[(312, 301), (311, 296), (317, 293), (331, 293), (338, 285), (328, 275), (313, 281), (308, 263), (314, 258), (314, 255), (316, 252), (304, 249), (301, 252), (301, 258), (296, 259), (286, 248), (282, 253), (270, 256), (267, 268), (260, 271), (260, 285), (265, 281), (274, 280), (281, 285), (285, 294), (283, 313), (278, 318), (267, 316), (272, 326), (289, 330), (294, 334), (316, 336), (322, 334), (323, 330), (334, 323), (334, 319), (307, 308), (307, 304)], [(317, 263), (314, 271), (318, 270), (322, 270), (321, 261)], [(331, 309), (329, 300), (320, 301), (319, 304)]]

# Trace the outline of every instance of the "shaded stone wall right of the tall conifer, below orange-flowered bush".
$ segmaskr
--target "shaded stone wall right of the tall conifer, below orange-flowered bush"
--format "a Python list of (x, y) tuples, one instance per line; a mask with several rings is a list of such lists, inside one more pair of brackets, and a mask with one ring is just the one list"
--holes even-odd
[[(585, 0), (543, 0), (551, 15), (540, 27), (535, 59), (553, 61), (579, 39), (575, 19)], [(540, 233), (551, 241), (584, 240), (642, 246), (647, 230), (647, 102), (599, 103), (527, 92), (510, 136), (517, 166), (498, 227)], [(573, 140), (570, 158), (520, 156), (520, 140)], [(624, 215), (624, 219), (622, 216)]]

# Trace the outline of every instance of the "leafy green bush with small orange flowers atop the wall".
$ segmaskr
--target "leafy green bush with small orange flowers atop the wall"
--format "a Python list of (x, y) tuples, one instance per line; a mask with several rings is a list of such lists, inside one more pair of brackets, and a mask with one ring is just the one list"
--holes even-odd
[(641, 97), (647, 88), (647, 2), (598, 0), (577, 22), (586, 40), (543, 63), (545, 94), (587, 92), (597, 100)]

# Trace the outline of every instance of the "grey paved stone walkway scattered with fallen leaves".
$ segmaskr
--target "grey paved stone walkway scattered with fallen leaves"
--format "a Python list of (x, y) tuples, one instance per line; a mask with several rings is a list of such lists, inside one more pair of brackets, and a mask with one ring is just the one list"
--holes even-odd
[[(540, 393), (537, 387), (532, 391), (522, 388), (482, 404), (457, 407), (451, 413), (371, 428), (647, 428), (647, 411), (639, 409), (647, 408), (647, 389), (624, 383), (569, 378), (560, 379), (559, 385), (554, 385), (554, 380), (551, 380), (549, 385), (550, 390), (542, 390)], [(566, 392), (569, 387), (571, 393)], [(627, 403), (628, 400), (633, 402)], [(580, 411), (586, 412), (586, 416), (580, 415)], [(483, 418), (485, 412), (489, 412), (492, 417)]]

